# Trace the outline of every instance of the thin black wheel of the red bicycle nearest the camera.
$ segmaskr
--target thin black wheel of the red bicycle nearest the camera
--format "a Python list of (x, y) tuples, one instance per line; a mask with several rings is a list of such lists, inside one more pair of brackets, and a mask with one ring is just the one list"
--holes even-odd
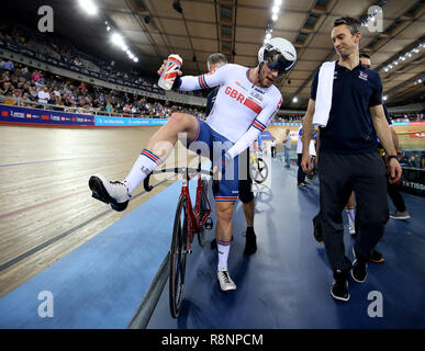
[(179, 199), (170, 248), (169, 303), (172, 318), (180, 314), (183, 301), (186, 259), (188, 254), (188, 201)]

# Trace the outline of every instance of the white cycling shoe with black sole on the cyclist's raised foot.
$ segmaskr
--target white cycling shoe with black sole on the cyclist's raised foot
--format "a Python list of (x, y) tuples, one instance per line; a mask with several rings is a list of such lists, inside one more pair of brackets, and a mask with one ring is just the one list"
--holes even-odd
[(111, 182), (102, 176), (92, 176), (89, 180), (92, 196), (107, 204), (115, 211), (124, 211), (128, 205), (128, 186), (125, 182)]

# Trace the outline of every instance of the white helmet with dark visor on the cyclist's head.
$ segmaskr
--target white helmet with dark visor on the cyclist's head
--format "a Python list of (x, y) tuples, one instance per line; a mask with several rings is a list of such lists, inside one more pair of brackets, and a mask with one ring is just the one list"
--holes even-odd
[(289, 71), (297, 61), (293, 45), (282, 37), (272, 37), (258, 50), (258, 63), (278, 70), (279, 76)]

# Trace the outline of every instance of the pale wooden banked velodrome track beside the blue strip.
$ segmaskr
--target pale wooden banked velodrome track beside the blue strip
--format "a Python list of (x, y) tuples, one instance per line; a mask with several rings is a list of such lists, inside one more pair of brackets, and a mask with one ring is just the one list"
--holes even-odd
[[(88, 189), (94, 173), (123, 179), (157, 129), (0, 125), (0, 297), (172, 182), (165, 181), (148, 194), (139, 186), (124, 213), (110, 211)], [(278, 141), (284, 129), (269, 127)], [(409, 129), (425, 132), (425, 126), (396, 128), (401, 146), (425, 148), (423, 140), (409, 138)]]

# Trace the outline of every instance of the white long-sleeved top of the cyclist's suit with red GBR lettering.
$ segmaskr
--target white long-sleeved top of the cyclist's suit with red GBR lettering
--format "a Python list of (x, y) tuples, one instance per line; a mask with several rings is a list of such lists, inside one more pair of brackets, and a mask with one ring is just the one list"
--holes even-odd
[(279, 111), (282, 102), (278, 88), (254, 86), (248, 72), (247, 67), (227, 64), (210, 73), (181, 77), (176, 84), (182, 91), (220, 86), (206, 124), (234, 143), (227, 151), (232, 158), (244, 151), (257, 138)]

